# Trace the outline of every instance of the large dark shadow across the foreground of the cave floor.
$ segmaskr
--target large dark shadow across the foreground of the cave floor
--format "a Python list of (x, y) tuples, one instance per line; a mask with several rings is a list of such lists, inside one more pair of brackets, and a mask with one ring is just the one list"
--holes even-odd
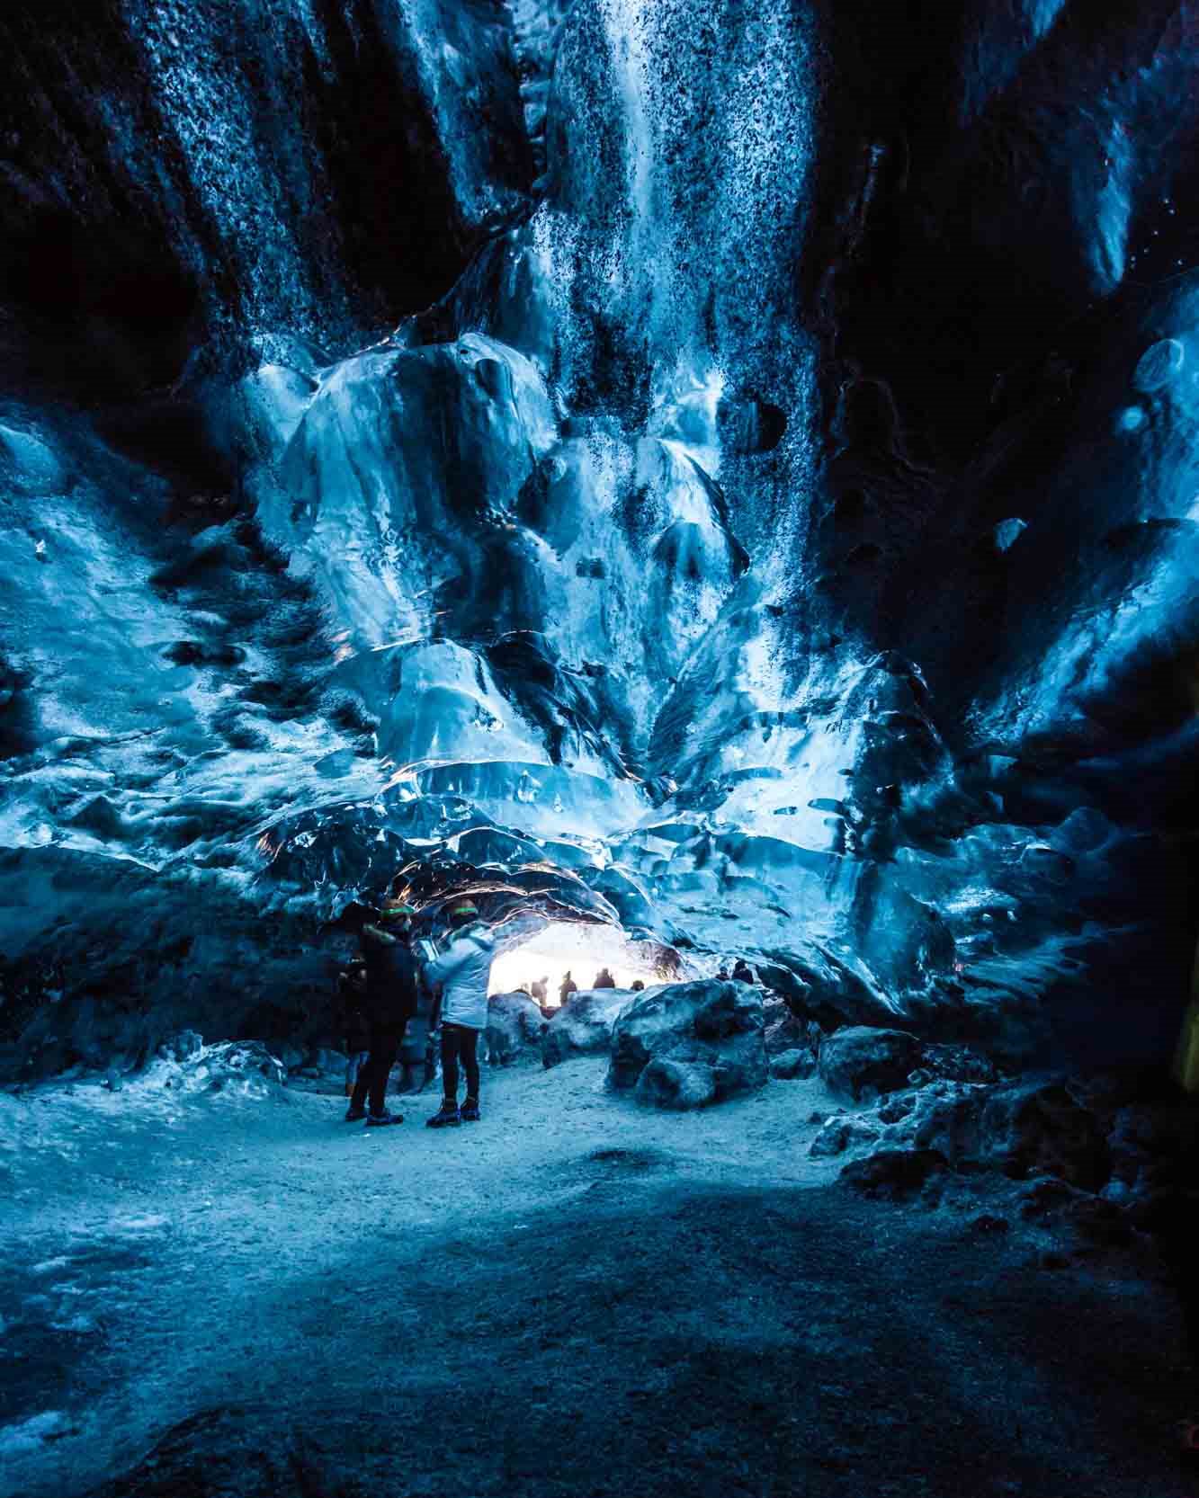
[[(174, 1426), (94, 1498), (265, 1498), (297, 1461), (297, 1491), (327, 1498), (1190, 1491), (1157, 1438), (1180, 1362), (1165, 1291), (1046, 1273), (841, 1186), (620, 1185), (388, 1237), (351, 1324), (322, 1311), (324, 1275), (282, 1287), (307, 1305), (303, 1380), (264, 1368), (265, 1402)], [(226, 1480), (229, 1450), (258, 1455)]]

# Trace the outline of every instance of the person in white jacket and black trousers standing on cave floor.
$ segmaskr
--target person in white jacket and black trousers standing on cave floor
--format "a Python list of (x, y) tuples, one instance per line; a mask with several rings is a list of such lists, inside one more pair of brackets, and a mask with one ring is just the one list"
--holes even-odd
[[(441, 1077), (442, 1103), (430, 1128), (477, 1124), (478, 1110), (478, 1032), (487, 1029), (487, 987), (496, 944), (478, 920), (471, 900), (450, 911), (454, 930), (445, 951), (426, 969), (426, 980), (441, 989)], [(459, 1061), (466, 1073), (466, 1098), (459, 1109)]]

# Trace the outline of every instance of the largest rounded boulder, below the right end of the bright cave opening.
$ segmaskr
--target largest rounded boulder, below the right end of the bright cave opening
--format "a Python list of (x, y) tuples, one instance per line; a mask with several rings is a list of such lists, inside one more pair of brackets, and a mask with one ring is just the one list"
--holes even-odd
[(613, 1025), (608, 1086), (632, 1089), (638, 1103), (703, 1107), (766, 1079), (761, 995), (746, 984), (703, 980), (647, 989)]

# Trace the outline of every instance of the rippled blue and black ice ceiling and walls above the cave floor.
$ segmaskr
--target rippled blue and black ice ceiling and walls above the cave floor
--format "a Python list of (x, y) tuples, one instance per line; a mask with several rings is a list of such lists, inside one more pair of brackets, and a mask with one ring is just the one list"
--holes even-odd
[(1160, 1052), (1199, 6), (0, 15), (3, 1068), (324, 1005), (397, 870)]

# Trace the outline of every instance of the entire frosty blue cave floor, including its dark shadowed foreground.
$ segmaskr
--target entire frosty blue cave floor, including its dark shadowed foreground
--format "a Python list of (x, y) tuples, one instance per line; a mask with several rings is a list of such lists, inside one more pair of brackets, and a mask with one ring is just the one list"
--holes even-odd
[(860, 1200), (808, 1158), (817, 1083), (656, 1115), (602, 1068), (493, 1074), (451, 1132), (430, 1097), (372, 1132), (292, 1089), (3, 1100), (0, 1489), (1196, 1492), (1163, 1290), (971, 1227), (1007, 1183)]

